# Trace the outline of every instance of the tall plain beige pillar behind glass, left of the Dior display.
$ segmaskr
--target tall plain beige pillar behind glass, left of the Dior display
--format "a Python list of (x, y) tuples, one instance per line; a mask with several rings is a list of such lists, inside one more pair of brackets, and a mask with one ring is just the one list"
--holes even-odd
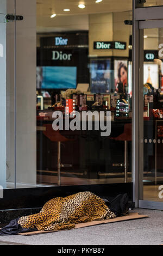
[(1, 2), (6, 39), (3, 66), (7, 74), (6, 148), (1, 147), (7, 155), (3, 157), (3, 187), (36, 187), (36, 1)]

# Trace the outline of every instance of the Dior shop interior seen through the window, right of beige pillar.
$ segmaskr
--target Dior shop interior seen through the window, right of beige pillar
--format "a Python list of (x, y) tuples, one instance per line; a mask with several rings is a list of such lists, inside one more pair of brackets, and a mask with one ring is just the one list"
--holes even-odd
[[(132, 28), (124, 20), (132, 14), (127, 3), (118, 12), (105, 2), (85, 4), (83, 10), (65, 5), (70, 11), (55, 3), (53, 18), (54, 11), (47, 14), (44, 4), (37, 5), (37, 184), (131, 182)], [(69, 100), (75, 100), (81, 126), (84, 112), (103, 112), (105, 120), (110, 112), (111, 134), (101, 136), (95, 120), (91, 131), (89, 122), (87, 130), (54, 131), (53, 113), (61, 111), (65, 121)]]

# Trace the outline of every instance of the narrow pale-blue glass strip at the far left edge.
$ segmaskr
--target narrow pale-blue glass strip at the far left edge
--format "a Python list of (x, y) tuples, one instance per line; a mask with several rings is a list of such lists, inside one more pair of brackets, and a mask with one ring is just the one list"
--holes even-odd
[(15, 1), (1, 0), (0, 10), (1, 190), (15, 187)]

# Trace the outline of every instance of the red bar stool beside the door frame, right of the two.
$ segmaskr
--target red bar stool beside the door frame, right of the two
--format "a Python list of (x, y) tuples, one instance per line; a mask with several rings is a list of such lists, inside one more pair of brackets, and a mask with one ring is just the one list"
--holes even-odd
[(124, 182), (127, 182), (127, 172), (128, 172), (128, 142), (132, 140), (132, 124), (124, 125), (124, 132), (116, 138), (115, 141), (124, 141)]

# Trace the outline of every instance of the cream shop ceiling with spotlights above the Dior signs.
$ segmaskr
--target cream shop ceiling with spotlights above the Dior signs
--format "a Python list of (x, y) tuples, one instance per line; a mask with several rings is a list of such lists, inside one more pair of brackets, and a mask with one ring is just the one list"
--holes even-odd
[[(78, 8), (84, 3), (85, 9)], [(65, 12), (64, 9), (70, 9)], [(89, 14), (113, 13), (132, 9), (132, 0), (37, 0), (37, 32), (58, 32), (89, 29)], [(57, 14), (51, 19), (51, 14)]]

